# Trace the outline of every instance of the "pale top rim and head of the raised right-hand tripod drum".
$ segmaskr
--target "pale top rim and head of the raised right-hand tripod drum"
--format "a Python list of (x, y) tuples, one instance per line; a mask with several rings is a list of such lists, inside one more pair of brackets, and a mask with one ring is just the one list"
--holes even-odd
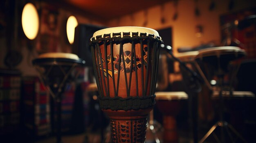
[(216, 56), (216, 55), (227, 55), (232, 52), (239, 53), (240, 55), (246, 55), (246, 52), (244, 49), (241, 49), (236, 46), (220, 46), (220, 47), (204, 48), (199, 50), (198, 52), (199, 52), (198, 55), (195, 56), (194, 59), (198, 59), (200, 57)]

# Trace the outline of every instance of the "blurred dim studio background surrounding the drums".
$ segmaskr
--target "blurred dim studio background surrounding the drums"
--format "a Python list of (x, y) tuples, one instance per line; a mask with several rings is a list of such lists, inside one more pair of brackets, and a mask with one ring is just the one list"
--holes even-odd
[[(170, 47), (173, 55), (201, 79), (193, 79), (167, 51), (160, 51), (157, 92), (182, 92), (186, 96), (156, 101), (153, 116), (148, 117), (146, 143), (198, 142), (219, 120), (220, 108), (223, 120), (239, 134), (217, 125), (204, 142), (220, 142), (220, 128), (225, 128), (226, 142), (253, 143), (255, 19), (255, 0), (1, 0), (0, 142), (56, 142), (56, 101), (32, 63), (43, 53), (73, 53), (85, 61), (84, 66), (69, 73), (63, 87), (63, 143), (110, 142), (110, 120), (99, 108), (89, 40), (100, 29), (140, 26), (157, 30), (163, 47)], [(227, 63), (221, 67), (225, 68), (221, 87), (229, 92), (222, 106), (218, 75), (203, 57), (194, 59), (200, 50), (219, 46), (237, 46), (245, 52), (240, 58), (234, 53), (237, 58), (221, 59)], [(216, 56), (211, 62), (218, 63), (218, 54), (210, 56)], [(165, 116), (172, 120), (166, 123)], [(172, 132), (171, 140), (166, 139), (166, 130)]]

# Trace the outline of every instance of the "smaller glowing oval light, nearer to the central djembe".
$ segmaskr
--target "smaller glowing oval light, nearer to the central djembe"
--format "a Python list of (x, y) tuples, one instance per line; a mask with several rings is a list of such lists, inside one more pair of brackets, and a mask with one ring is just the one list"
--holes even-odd
[(70, 44), (74, 42), (75, 28), (77, 25), (78, 22), (73, 15), (67, 19), (67, 39)]

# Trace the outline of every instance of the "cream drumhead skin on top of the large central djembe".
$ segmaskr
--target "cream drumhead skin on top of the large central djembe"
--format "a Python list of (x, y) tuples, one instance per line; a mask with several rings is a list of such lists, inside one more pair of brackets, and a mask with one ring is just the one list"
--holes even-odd
[[(154, 29), (146, 28), (146, 27), (136, 27), (136, 26), (123, 26), (123, 27), (112, 27), (107, 29), (101, 29), (99, 31), (96, 31), (92, 37), (96, 37), (103, 34), (110, 34), (110, 33), (128, 33), (128, 32), (140, 32), (140, 33), (149, 33), (154, 34), (156, 36), (159, 36), (158, 32)], [(96, 38), (95, 38), (96, 39)]]

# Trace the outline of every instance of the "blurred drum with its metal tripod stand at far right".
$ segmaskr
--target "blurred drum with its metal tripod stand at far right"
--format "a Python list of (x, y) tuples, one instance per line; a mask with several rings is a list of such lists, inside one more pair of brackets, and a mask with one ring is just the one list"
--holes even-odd
[[(245, 139), (223, 118), (223, 109), (224, 109), (224, 97), (223, 92), (225, 90), (230, 91), (230, 95), (233, 94), (232, 90), (232, 80), (231, 77), (229, 81), (229, 86), (225, 87), (224, 77), (229, 72), (228, 65), (231, 61), (244, 57), (246, 55), (245, 50), (236, 47), (236, 46), (222, 46), (222, 47), (211, 47), (199, 50), (199, 54), (195, 57), (195, 66), (198, 69), (198, 72), (203, 77), (205, 83), (209, 84), (209, 81), (213, 78), (213, 76), (217, 77), (216, 90), (219, 93), (218, 95), (218, 103), (219, 103), (219, 119), (215, 125), (211, 127), (211, 129), (205, 134), (205, 136), (199, 141), (199, 143), (203, 143), (210, 135), (214, 132), (214, 130), (220, 126), (226, 129), (229, 129), (231, 132), (236, 134), (240, 141), (246, 142)], [(233, 72), (236, 73), (237, 69)], [(229, 130), (224, 130), (224, 128), (220, 128), (220, 141), (225, 142), (225, 132), (231, 134)], [(229, 136), (230, 137), (230, 136)], [(232, 137), (230, 137), (231, 140)]]

